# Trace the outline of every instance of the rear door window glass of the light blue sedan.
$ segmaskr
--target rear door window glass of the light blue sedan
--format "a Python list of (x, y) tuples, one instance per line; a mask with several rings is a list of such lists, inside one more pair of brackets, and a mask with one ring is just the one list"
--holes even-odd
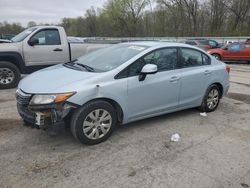
[(196, 50), (192, 49), (182, 49), (182, 67), (194, 67), (201, 66), (202, 63), (202, 54)]

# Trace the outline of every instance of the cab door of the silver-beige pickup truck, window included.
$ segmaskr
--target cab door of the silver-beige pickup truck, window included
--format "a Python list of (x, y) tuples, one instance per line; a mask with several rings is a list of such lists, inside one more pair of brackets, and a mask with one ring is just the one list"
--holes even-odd
[(38, 44), (30, 46), (24, 43), (23, 53), (27, 66), (53, 65), (69, 61), (68, 44), (62, 41), (58, 29), (42, 29), (30, 39), (37, 39)]

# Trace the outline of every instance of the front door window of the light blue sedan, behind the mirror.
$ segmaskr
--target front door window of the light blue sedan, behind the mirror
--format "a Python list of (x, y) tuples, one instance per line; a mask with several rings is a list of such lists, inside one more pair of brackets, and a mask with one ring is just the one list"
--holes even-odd
[(146, 64), (155, 64), (158, 71), (167, 71), (177, 68), (177, 49), (165, 48), (156, 50), (134, 62), (129, 66), (129, 76), (139, 75)]

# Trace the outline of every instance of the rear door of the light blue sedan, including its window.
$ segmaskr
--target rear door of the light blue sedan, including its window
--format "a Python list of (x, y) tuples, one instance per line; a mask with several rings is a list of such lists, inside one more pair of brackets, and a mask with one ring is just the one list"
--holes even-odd
[(194, 107), (202, 98), (212, 78), (210, 58), (195, 49), (181, 48), (180, 107)]

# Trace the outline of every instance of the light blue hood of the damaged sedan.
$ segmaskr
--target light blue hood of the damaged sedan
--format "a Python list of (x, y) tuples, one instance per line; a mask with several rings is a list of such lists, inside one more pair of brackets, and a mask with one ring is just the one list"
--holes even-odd
[(72, 92), (79, 89), (76, 87), (79, 82), (84, 84), (100, 74), (102, 73), (85, 72), (56, 65), (23, 78), (18, 88), (31, 94)]

